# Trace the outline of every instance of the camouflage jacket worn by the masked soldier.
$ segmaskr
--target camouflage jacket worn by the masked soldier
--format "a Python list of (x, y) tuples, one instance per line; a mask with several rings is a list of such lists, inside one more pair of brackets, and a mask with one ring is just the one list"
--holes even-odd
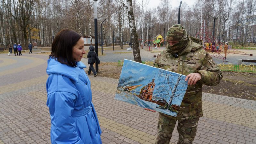
[(188, 44), (177, 58), (167, 47), (166, 50), (158, 54), (154, 67), (183, 75), (190, 73), (202, 75), (201, 80), (195, 85), (188, 85), (177, 115), (177, 117), (188, 119), (202, 117), (202, 85), (217, 85), (222, 79), (222, 72), (212, 57), (202, 49), (202, 45), (193, 42), (188, 36)]

